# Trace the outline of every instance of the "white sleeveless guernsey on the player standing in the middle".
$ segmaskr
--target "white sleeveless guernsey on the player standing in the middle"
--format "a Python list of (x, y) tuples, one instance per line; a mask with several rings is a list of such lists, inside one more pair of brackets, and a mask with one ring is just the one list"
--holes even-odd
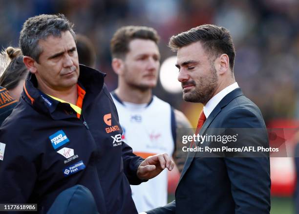
[[(112, 92), (119, 122), (123, 129), (122, 140), (132, 147), (137, 156), (148, 156), (174, 151), (174, 113), (171, 106), (152, 97), (149, 104), (122, 102)], [(138, 186), (131, 185), (132, 197), (138, 212), (147, 211), (167, 203), (167, 170)]]

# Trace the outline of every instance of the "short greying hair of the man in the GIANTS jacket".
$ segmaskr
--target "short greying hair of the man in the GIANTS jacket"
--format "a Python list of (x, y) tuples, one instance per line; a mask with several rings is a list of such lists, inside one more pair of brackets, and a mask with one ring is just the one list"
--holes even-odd
[(48, 36), (61, 37), (61, 32), (65, 31), (69, 31), (75, 40), (75, 32), (72, 28), (73, 24), (63, 14), (42, 14), (29, 18), (23, 24), (20, 33), (19, 45), (23, 55), (30, 56), (39, 62), (39, 57), (43, 51), (38, 45), (39, 40), (46, 39)]

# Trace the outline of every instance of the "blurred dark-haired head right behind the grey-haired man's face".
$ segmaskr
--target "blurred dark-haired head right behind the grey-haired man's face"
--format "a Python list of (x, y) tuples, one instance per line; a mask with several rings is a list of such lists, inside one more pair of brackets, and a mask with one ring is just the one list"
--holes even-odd
[(79, 63), (89, 67), (94, 66), (96, 61), (96, 52), (91, 41), (81, 34), (76, 35), (76, 40)]

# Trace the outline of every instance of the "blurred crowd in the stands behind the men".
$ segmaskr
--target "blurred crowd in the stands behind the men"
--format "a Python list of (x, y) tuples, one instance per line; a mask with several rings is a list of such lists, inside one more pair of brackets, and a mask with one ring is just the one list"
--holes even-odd
[[(91, 39), (96, 68), (107, 73), (110, 90), (116, 88), (117, 76), (110, 66), (109, 42), (119, 27), (155, 28), (162, 64), (175, 56), (167, 47), (172, 35), (204, 23), (224, 26), (235, 43), (236, 81), (260, 107), (266, 123), (299, 118), (298, 0), (0, 0), (0, 48), (18, 46), (22, 23), (43, 13), (63, 13), (76, 33)], [(154, 94), (196, 126), (200, 105), (184, 102), (181, 93), (170, 94), (160, 83)]]

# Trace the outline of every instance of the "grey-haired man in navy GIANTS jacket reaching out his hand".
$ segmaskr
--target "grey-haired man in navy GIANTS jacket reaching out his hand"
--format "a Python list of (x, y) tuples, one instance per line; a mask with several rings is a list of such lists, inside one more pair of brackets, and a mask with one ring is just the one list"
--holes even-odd
[(61, 192), (80, 184), (100, 214), (137, 213), (129, 184), (171, 170), (170, 157), (144, 160), (122, 142), (105, 74), (79, 66), (63, 15), (28, 19), (20, 47), (30, 75), (0, 129), (0, 203), (37, 203), (46, 213)]

